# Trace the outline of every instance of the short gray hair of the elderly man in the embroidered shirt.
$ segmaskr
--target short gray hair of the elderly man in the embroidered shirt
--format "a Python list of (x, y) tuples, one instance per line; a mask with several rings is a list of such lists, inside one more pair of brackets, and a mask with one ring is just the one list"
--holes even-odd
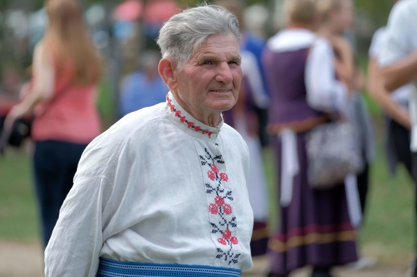
[(209, 5), (187, 8), (172, 16), (161, 28), (157, 44), (162, 58), (171, 58), (178, 70), (194, 55), (209, 36), (233, 34), (240, 43), (241, 35), (236, 18), (224, 7)]

